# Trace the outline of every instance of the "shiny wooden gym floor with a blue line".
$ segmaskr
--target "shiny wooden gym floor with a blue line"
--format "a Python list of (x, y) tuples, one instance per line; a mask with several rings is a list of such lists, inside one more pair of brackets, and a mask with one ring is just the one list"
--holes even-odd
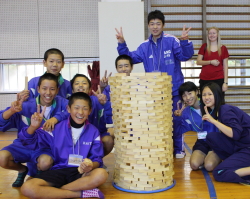
[[(15, 132), (0, 132), (0, 149), (12, 143), (16, 138)], [(249, 199), (250, 187), (235, 183), (216, 182), (211, 173), (205, 170), (192, 171), (189, 166), (190, 153), (196, 136), (186, 133), (186, 157), (174, 160), (174, 179), (176, 185), (167, 191), (151, 194), (127, 193), (112, 186), (114, 170), (114, 154), (104, 158), (109, 170), (109, 178), (100, 189), (107, 199)], [(250, 159), (250, 158), (249, 158)], [(12, 188), (17, 172), (0, 168), (0, 199), (27, 199), (20, 193), (19, 188)], [(206, 176), (206, 178), (205, 178)]]

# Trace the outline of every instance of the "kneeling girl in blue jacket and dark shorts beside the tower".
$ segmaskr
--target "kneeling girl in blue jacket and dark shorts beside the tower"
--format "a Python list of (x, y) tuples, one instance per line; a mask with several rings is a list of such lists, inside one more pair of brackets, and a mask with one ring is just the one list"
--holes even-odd
[(179, 88), (179, 94), (187, 107), (183, 106), (181, 110), (178, 109), (174, 113), (179, 116), (177, 131), (181, 134), (188, 131), (197, 133), (197, 140), (190, 157), (190, 167), (198, 170), (204, 165), (207, 171), (212, 171), (220, 163), (220, 158), (207, 144), (206, 135), (209, 132), (218, 131), (218, 129), (213, 124), (202, 120), (198, 87), (193, 82), (183, 83)]

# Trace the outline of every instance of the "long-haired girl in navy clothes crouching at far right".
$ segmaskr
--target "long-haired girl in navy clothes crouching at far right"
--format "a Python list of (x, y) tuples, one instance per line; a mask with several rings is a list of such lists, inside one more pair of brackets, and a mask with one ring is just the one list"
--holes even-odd
[(225, 104), (214, 82), (203, 87), (201, 110), (202, 119), (220, 130), (207, 135), (207, 143), (223, 160), (213, 171), (215, 180), (250, 185), (250, 116)]

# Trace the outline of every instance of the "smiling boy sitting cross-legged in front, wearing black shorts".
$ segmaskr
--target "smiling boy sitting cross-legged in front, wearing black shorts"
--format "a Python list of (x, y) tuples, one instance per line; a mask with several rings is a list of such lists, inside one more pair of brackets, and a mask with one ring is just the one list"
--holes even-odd
[(91, 108), (87, 94), (74, 93), (67, 108), (70, 117), (58, 123), (52, 133), (38, 129), (45, 109), (32, 115), (31, 125), (19, 133), (21, 141), (32, 150), (51, 148), (55, 160), (51, 170), (24, 183), (21, 192), (25, 196), (32, 199), (104, 198), (96, 187), (107, 180), (108, 174), (99, 168), (103, 145), (98, 129), (87, 120)]

